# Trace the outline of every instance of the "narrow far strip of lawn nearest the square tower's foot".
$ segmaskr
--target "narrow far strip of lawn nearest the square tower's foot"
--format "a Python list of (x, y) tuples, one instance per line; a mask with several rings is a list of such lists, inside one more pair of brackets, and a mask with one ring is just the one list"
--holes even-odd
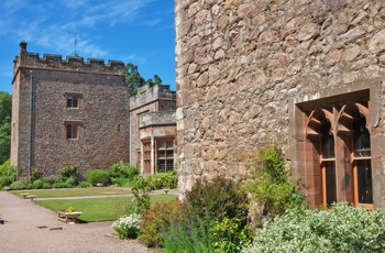
[(16, 197), (22, 198), (21, 193), (36, 195), (37, 198), (59, 198), (59, 197), (84, 197), (84, 196), (109, 196), (130, 194), (129, 188), (112, 187), (90, 187), (90, 188), (63, 188), (63, 189), (29, 189), (9, 191)]

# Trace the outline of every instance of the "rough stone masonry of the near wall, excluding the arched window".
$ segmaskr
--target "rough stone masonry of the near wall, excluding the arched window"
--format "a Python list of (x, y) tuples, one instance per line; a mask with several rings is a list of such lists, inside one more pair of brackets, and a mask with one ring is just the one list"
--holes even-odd
[[(372, 106), (375, 139), (384, 143), (384, 1), (176, 0), (175, 13), (182, 191), (200, 176), (242, 178), (253, 152), (267, 143), (295, 166), (300, 155), (289, 111), (320, 90), (333, 96), (380, 79)], [(384, 185), (384, 165), (375, 166)]]

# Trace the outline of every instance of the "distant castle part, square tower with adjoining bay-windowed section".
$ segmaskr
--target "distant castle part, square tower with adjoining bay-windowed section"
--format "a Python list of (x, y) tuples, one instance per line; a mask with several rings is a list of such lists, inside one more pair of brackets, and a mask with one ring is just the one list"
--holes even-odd
[[(40, 58), (21, 42), (13, 67), (11, 131), (11, 164), (18, 166), (19, 178), (29, 179), (33, 167), (55, 177), (65, 165), (76, 165), (80, 173), (120, 161), (143, 165), (147, 139), (152, 145), (146, 145), (151, 154), (145, 161), (151, 169), (145, 173), (167, 170), (164, 162), (173, 169), (175, 117), (162, 122), (155, 114), (169, 117), (174, 110), (175, 116), (175, 92), (173, 97), (166, 85), (145, 85), (138, 96), (130, 97), (124, 76), (123, 62), (84, 62), (77, 55), (65, 61), (48, 54)], [(143, 100), (143, 94), (152, 96)], [(144, 107), (147, 110), (136, 112)], [(151, 119), (141, 119), (145, 117)], [(140, 131), (150, 127), (153, 131), (139, 138)], [(160, 138), (173, 142), (167, 158), (158, 157), (163, 155), (156, 146), (162, 145)]]

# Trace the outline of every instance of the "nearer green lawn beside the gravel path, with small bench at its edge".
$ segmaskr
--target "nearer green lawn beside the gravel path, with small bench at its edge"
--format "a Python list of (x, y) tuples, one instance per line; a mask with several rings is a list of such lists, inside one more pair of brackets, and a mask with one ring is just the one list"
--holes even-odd
[[(31, 191), (30, 191), (31, 194)], [(40, 191), (37, 191), (40, 197)], [(169, 201), (175, 199), (175, 195), (151, 195), (151, 202)], [(77, 211), (81, 211), (80, 221), (106, 221), (116, 220), (124, 210), (124, 206), (131, 201), (130, 197), (106, 197), (106, 198), (85, 198), (85, 199), (57, 199), (57, 200), (34, 200), (35, 204), (57, 211), (57, 209), (66, 209), (75, 207)]]

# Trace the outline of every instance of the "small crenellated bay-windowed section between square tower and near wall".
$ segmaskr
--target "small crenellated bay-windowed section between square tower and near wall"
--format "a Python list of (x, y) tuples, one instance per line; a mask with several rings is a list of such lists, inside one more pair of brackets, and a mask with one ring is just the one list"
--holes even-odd
[(168, 85), (144, 85), (130, 98), (131, 164), (142, 174), (176, 168), (176, 100)]

